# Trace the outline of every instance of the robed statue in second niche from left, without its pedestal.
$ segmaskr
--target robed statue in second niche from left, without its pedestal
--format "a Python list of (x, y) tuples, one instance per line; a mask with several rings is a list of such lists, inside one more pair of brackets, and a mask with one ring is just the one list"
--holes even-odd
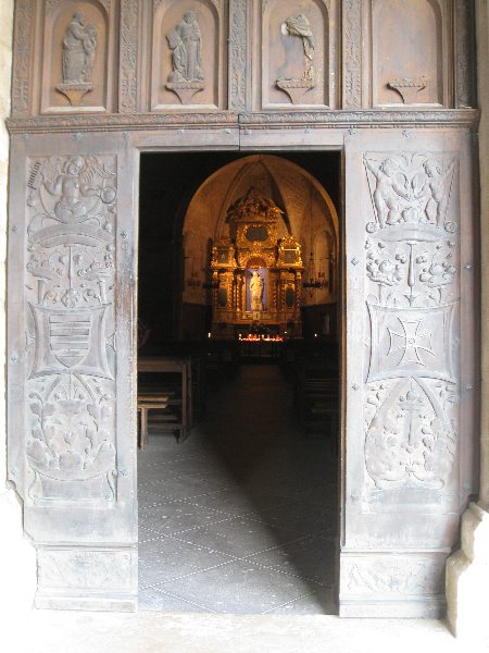
[(173, 52), (173, 72), (168, 82), (203, 82), (202, 36), (196, 13), (187, 11), (166, 38)]

